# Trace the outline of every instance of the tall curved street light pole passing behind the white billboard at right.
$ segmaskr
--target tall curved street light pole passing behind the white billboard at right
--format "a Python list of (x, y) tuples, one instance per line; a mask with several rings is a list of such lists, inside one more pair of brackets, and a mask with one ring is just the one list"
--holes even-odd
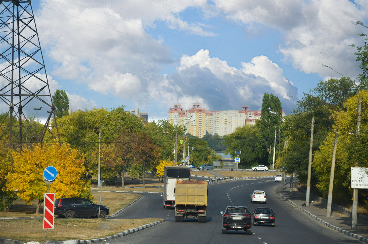
[[(357, 23), (357, 24), (360, 24), (360, 23)], [(363, 25), (363, 24), (361, 24), (361, 25)], [(363, 25), (363, 26), (366, 27), (365, 25)], [(327, 66), (323, 63), (322, 63), (322, 66), (323, 67), (328, 67), (329, 69), (332, 69), (331, 67), (329, 67), (329, 66)], [(336, 70), (334, 70), (334, 69), (332, 69), (332, 70), (335, 71), (337, 74), (340, 74)], [(362, 115), (362, 104), (361, 104), (361, 100), (360, 100), (360, 89), (359, 89), (358, 85), (355, 84), (355, 82), (352, 81), (350, 78), (348, 78), (348, 77), (346, 77), (342, 74), (340, 74), (340, 75), (345, 77), (346, 79), (350, 80), (354, 84), (354, 86), (358, 88), (359, 99), (358, 99), (358, 112), (357, 112), (357, 137), (359, 138), (360, 122), (361, 122), (361, 115)], [(358, 162), (355, 162), (354, 167), (359, 167)], [(353, 206), (352, 206), (352, 211), (351, 211), (351, 229), (352, 230), (357, 229), (357, 217), (358, 217), (358, 189), (354, 188), (353, 189)]]

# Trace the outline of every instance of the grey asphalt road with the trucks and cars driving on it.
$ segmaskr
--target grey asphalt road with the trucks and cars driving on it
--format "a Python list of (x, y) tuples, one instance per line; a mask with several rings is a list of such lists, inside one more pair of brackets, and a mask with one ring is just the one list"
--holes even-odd
[[(287, 181), (289, 183), (289, 181)], [(128, 236), (103, 241), (115, 243), (361, 243), (322, 225), (275, 194), (275, 181), (271, 179), (246, 179), (209, 185), (207, 223), (196, 219), (174, 222), (174, 209), (164, 209), (160, 194), (143, 194), (144, 197), (118, 214), (116, 219), (156, 217), (166, 219), (157, 226)], [(250, 193), (264, 190), (267, 204), (251, 203)], [(267, 206), (276, 213), (275, 227), (253, 226), (252, 235), (243, 230), (222, 234), (222, 215), (228, 205), (245, 205), (250, 211), (257, 206)], [(124, 230), (121, 230), (124, 231)]]

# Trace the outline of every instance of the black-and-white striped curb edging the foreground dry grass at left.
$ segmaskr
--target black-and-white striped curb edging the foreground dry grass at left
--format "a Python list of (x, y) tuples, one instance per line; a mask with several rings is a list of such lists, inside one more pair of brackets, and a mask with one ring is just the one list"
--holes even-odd
[(100, 242), (100, 241), (107, 241), (107, 240), (111, 240), (111, 239), (114, 239), (114, 238), (117, 238), (117, 237), (126, 236), (126, 235), (129, 235), (129, 234), (138, 232), (140, 230), (144, 230), (144, 229), (147, 229), (149, 227), (158, 225), (158, 224), (160, 224), (160, 223), (162, 223), (164, 221), (165, 221), (164, 219), (161, 219), (159, 221), (155, 221), (155, 222), (152, 222), (152, 223), (149, 223), (149, 224), (144, 224), (142, 226), (135, 227), (135, 228), (130, 229), (130, 230), (125, 230), (123, 232), (120, 232), (118, 234), (115, 234), (113, 236), (108, 236), (108, 237), (105, 237), (105, 238), (96, 238), (96, 239), (85, 240), (85, 241), (84, 240), (46, 241), (46, 244), (87, 244), (87, 243), (97, 243), (97, 242)]

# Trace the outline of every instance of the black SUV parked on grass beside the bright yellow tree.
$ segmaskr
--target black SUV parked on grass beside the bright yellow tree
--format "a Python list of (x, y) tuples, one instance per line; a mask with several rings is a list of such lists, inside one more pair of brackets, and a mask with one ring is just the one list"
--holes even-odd
[(74, 216), (96, 216), (100, 218), (110, 213), (106, 206), (97, 205), (86, 198), (58, 198), (54, 205), (54, 214), (70, 219)]

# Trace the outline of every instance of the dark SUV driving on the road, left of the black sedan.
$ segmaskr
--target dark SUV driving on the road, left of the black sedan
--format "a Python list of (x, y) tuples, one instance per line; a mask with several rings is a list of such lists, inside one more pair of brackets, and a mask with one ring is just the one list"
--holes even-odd
[(247, 235), (252, 234), (251, 212), (245, 206), (227, 206), (222, 214), (222, 234), (228, 230), (244, 230)]

